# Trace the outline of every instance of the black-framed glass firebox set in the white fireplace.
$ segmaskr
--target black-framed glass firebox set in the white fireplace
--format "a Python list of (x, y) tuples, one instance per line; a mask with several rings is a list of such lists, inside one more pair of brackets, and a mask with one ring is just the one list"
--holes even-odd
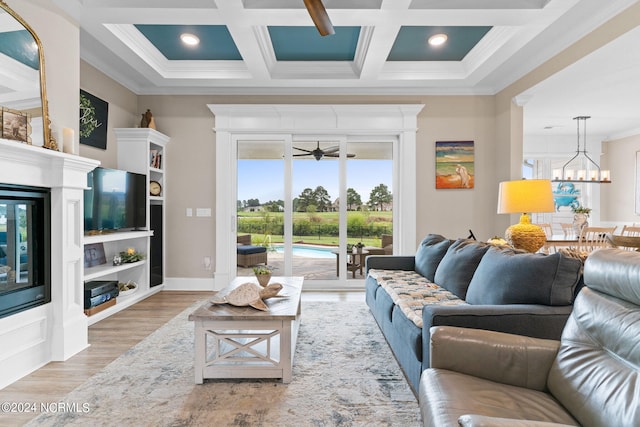
[(0, 318), (51, 301), (50, 189), (0, 184)]

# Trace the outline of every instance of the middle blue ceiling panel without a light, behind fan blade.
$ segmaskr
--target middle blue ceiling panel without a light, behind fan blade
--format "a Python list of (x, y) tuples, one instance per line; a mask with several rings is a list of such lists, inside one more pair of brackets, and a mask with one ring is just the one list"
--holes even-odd
[(278, 61), (353, 61), (360, 27), (334, 27), (322, 37), (316, 27), (270, 26), (269, 36)]

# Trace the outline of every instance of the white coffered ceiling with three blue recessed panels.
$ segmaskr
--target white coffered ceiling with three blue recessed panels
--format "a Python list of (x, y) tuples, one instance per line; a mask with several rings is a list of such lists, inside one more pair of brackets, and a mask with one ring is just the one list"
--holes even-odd
[[(324, 0), (325, 37), (303, 0), (52, 1), (80, 23), (82, 59), (137, 94), (422, 95), (495, 94), (638, 0)], [(569, 109), (554, 111), (567, 128), (589, 114)]]

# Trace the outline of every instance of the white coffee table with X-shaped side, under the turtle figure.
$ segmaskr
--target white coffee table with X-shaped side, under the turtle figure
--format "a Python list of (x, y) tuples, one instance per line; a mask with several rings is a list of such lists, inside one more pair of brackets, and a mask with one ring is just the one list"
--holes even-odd
[[(229, 287), (246, 282), (257, 284), (255, 277), (238, 277)], [(302, 282), (302, 277), (272, 277), (270, 283), (282, 283), (279, 295), (286, 297), (265, 300), (268, 311), (207, 302), (191, 313), (196, 384), (205, 378), (282, 378), (283, 383), (291, 382)]]

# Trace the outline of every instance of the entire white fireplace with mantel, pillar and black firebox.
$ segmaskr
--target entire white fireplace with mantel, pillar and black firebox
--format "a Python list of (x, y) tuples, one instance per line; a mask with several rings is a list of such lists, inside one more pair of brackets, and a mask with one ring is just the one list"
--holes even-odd
[[(18, 288), (24, 291), (17, 304), (22, 307), (4, 307), (7, 311), (0, 317), (0, 388), (52, 360), (66, 360), (89, 345), (83, 311), (82, 213), (87, 173), (99, 164), (0, 139), (0, 186), (10, 192), (19, 189), (25, 196), (5, 193), (0, 197), (2, 221), (6, 218), (9, 223), (10, 215), (21, 218), (0, 228), (7, 231), (2, 248), (8, 254), (3, 264), (10, 267), (3, 269), (8, 276), (0, 282), (8, 294)], [(33, 228), (25, 232), (22, 224), (27, 223)], [(47, 237), (41, 240), (43, 234)], [(15, 279), (9, 277), (11, 271)]]

